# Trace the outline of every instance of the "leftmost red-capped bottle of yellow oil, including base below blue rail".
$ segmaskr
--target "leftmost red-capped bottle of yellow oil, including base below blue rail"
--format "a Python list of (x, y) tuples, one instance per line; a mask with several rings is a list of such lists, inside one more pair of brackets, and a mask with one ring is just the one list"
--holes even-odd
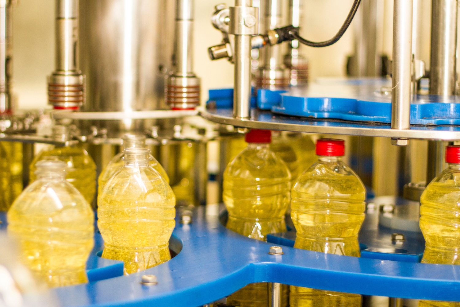
[[(227, 228), (265, 241), (272, 232), (285, 232), (284, 214), (290, 200), (291, 174), (286, 164), (270, 151), (270, 130), (252, 129), (247, 148), (224, 172), (223, 199), (228, 210)], [(282, 306), (287, 306), (284, 287)], [(249, 284), (229, 296), (241, 307), (265, 307), (267, 283)]]

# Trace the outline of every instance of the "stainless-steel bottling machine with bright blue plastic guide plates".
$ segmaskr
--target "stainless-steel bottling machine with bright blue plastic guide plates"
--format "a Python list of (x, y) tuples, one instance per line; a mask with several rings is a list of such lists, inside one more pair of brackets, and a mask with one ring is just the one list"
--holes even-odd
[[(415, 52), (421, 37), (428, 36), (417, 26), (421, 0), (391, 1), (389, 60), (377, 54), (372, 39), (379, 30), (379, 0), (352, 1), (338, 33), (323, 42), (301, 35), (304, 2), (235, 0), (233, 6), (214, 7), (209, 27), (221, 31), (223, 40), (209, 48), (209, 57), (234, 65), (234, 87), (210, 91), (203, 106), (201, 80), (192, 65), (194, 0), (56, 0), (56, 65), (47, 79), (53, 110), (20, 112), (11, 92), (13, 1), (0, 1), (0, 141), (22, 143), (23, 185), (29, 182), (34, 144), (80, 143), (99, 174), (119, 150), (121, 135), (134, 132), (148, 137), (177, 196), (172, 260), (123, 276), (120, 261), (100, 257), (104, 242), (96, 232), (88, 284), (39, 295), (33, 287), (19, 286), (23, 299), (9, 290), (15, 289), (11, 284), (0, 286), (0, 302), (3, 298), (15, 307), (234, 306), (225, 297), (256, 282), (270, 283), (271, 307), (281, 307), (281, 284), (362, 294), (363, 306), (378, 306), (381, 297), (395, 307), (414, 306), (418, 299), (460, 301), (460, 267), (420, 263), (425, 241), (418, 226), (421, 191), (444, 168), (445, 145), (460, 140), (457, 1), (432, 0), (429, 71)], [(358, 40), (347, 67), (358, 77), (308, 80), (304, 45), (334, 44), (354, 17)], [(197, 116), (212, 122), (213, 132)], [(52, 135), (54, 125), (68, 126), (71, 139)], [(400, 174), (403, 197), (368, 193), (360, 258), (294, 249), (293, 227), (270, 234), (267, 242), (251, 240), (223, 226), (222, 205), (206, 204), (207, 142), (221, 143), (222, 173), (230, 140), (251, 128), (390, 138), (405, 149), (402, 164), (412, 139), (426, 139), (426, 182)], [(400, 169), (403, 173), (404, 165)], [(4, 230), (5, 215), (0, 218)], [(20, 279), (19, 265), (3, 258), (0, 279)]]

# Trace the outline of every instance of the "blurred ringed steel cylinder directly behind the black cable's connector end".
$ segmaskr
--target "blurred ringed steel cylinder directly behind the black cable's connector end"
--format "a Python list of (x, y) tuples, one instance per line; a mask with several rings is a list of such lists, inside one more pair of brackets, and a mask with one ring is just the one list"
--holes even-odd
[[(302, 0), (289, 0), (289, 22), (299, 27), (302, 19)], [(301, 54), (298, 40), (288, 43), (288, 52), (284, 56), (284, 65), (289, 69), (289, 83), (292, 86), (308, 83), (308, 60)]]

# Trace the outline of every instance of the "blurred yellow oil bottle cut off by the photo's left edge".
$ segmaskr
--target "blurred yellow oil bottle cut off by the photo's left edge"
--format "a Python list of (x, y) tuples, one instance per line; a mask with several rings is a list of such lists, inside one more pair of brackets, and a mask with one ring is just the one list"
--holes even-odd
[(23, 145), (0, 142), (0, 211), (8, 211), (23, 191)]

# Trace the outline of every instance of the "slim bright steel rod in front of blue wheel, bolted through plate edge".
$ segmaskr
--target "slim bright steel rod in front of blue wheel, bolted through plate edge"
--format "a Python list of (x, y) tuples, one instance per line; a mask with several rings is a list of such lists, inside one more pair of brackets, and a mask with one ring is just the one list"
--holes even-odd
[(412, 0), (394, 0), (391, 128), (410, 126)]

